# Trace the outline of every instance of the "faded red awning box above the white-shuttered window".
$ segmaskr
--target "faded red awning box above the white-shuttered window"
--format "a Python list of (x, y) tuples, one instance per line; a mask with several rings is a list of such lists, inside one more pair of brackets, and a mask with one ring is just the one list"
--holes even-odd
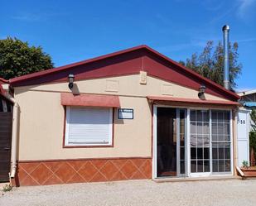
[(118, 96), (100, 95), (100, 94), (80, 94), (61, 93), (61, 105), (64, 106), (86, 106), (102, 108), (119, 108), (120, 102)]

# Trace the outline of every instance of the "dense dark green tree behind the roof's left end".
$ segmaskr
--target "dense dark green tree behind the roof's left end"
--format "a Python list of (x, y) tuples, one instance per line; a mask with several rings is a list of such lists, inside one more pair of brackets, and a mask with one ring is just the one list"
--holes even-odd
[(0, 77), (11, 79), (52, 67), (51, 56), (41, 46), (29, 46), (11, 37), (0, 40)]

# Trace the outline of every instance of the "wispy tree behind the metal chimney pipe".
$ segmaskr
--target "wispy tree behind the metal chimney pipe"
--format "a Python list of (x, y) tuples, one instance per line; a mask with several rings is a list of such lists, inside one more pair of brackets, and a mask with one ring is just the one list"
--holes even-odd
[[(234, 42), (234, 44), (229, 43), (229, 79), (231, 89), (237, 86), (235, 80), (241, 74), (242, 69), (242, 65), (238, 62), (238, 48), (239, 45), (237, 42)], [(194, 53), (191, 55), (191, 58), (186, 59), (185, 62), (180, 61), (180, 63), (223, 86), (223, 54), (224, 50), (220, 41), (216, 46), (214, 46), (214, 41), (207, 41), (200, 55)]]

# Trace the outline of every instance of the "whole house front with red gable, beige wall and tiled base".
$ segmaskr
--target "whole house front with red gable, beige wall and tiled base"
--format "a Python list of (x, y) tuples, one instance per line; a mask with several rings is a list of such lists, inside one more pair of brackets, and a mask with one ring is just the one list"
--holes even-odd
[(10, 84), (17, 185), (235, 175), (239, 97), (147, 46)]

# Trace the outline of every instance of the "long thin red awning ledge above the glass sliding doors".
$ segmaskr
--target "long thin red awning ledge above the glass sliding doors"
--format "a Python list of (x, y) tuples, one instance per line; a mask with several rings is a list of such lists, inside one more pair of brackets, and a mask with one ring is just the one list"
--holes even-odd
[(200, 104), (216, 104), (216, 105), (232, 105), (239, 106), (238, 102), (225, 101), (225, 100), (201, 100), (195, 98), (174, 98), (174, 97), (162, 97), (162, 96), (147, 96), (147, 99), (152, 101), (167, 101), (173, 103), (200, 103)]

